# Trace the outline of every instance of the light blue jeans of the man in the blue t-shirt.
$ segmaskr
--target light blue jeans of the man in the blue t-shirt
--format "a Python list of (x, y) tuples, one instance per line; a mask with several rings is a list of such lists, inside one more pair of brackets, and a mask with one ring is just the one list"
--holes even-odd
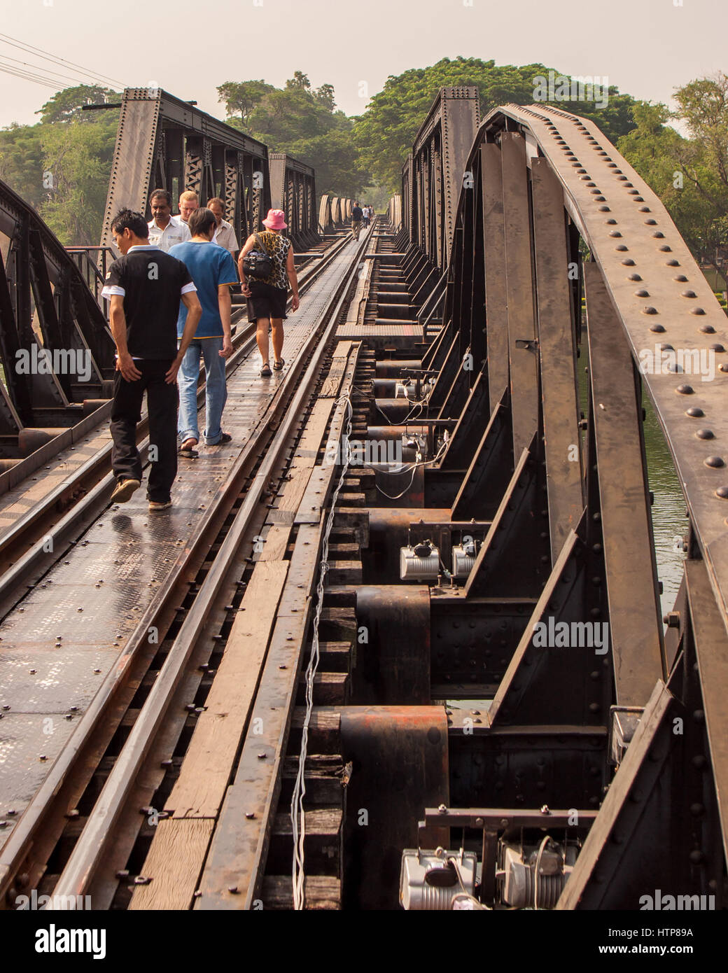
[(206, 427), (204, 442), (206, 446), (214, 446), (220, 442), (222, 418), (225, 401), (228, 398), (228, 387), (225, 383), (225, 359), (218, 351), (222, 351), (222, 338), (203, 338), (190, 342), (190, 346), (182, 359), (177, 373), (179, 387), (179, 414), (177, 418), (177, 432), (180, 441), (196, 439), (200, 442), (198, 428), (198, 378), (200, 378), (200, 352), (204, 361), (204, 414)]

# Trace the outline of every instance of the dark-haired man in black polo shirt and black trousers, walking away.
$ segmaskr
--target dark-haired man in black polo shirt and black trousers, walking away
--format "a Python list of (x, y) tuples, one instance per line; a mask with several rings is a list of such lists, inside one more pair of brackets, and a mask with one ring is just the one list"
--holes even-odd
[[(190, 271), (150, 246), (149, 227), (140, 213), (123, 209), (111, 232), (123, 254), (109, 268), (101, 291), (111, 303), (109, 321), (117, 347), (111, 411), (111, 465), (117, 486), (111, 499), (126, 503), (141, 483), (136, 423), (146, 389), (151, 462), (147, 499), (150, 510), (166, 510), (177, 475), (177, 370), (202, 308)], [(187, 321), (177, 348), (180, 299), (187, 307)]]

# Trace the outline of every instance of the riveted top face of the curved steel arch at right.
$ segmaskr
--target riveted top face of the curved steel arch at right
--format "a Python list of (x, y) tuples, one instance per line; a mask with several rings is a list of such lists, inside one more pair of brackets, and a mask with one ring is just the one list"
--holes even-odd
[[(728, 362), (723, 361), (728, 352), (718, 350), (728, 346), (725, 314), (664, 204), (594, 123), (540, 105), (507, 105), (492, 112), (483, 128), (500, 126), (505, 118), (532, 134), (559, 178), (564, 207), (599, 264), (633, 357), (661, 342), (687, 352), (714, 353), (713, 380), (674, 373), (647, 373), (642, 380), (673, 455), (728, 626), (726, 458), (720, 457), (721, 465), (707, 465), (716, 450), (695, 436), (700, 425), (720, 439), (728, 423)], [(582, 168), (583, 173), (577, 171)], [(688, 414), (696, 409), (702, 414)]]

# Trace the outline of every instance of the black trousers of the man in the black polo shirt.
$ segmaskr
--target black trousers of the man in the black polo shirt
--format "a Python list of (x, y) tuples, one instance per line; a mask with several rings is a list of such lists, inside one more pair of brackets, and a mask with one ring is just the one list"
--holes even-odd
[(135, 361), (141, 378), (127, 381), (121, 372), (114, 376), (114, 404), (111, 407), (111, 467), (118, 480), (141, 480), (141, 456), (136, 449), (136, 424), (147, 393), (149, 413), (149, 485), (147, 498), (156, 503), (170, 499), (177, 475), (177, 383), (164, 381), (169, 360)]

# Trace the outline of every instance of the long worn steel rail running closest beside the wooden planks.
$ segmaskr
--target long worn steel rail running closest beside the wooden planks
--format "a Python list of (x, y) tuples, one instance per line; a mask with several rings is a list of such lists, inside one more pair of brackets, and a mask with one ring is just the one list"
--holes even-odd
[[(164, 713), (174, 690), (182, 678), (187, 661), (193, 652), (200, 632), (204, 628), (209, 605), (220, 591), (232, 568), (239, 543), (256, 512), (263, 490), (286, 449), (302, 405), (319, 376), (328, 340), (335, 331), (339, 310), (346, 300), (346, 293), (354, 279), (361, 253), (367, 242), (368, 236), (364, 237), (361, 244), (355, 249), (351, 258), (350, 269), (322, 313), (320, 324), (311, 331), (306, 344), (297, 356), (296, 363), (285, 378), (287, 389), (297, 389), (294, 398), (285, 410), (265, 458), (237, 511), (235, 521), (200, 585), (200, 591), (195, 602), (166, 655), (163, 667), (139, 712), (121, 753), (115, 761), (114, 768), (89, 815), (81, 837), (74, 847), (58, 883), (56, 883), (55, 894), (63, 894), (63, 890), (67, 888), (84, 889), (91, 882), (99, 858), (111, 838), (115, 822), (123, 811), (133, 780), (152, 745), (154, 735), (164, 719)], [(310, 357), (311, 355), (312, 357)], [(306, 366), (305, 375), (301, 380), (301, 374), (309, 357), (309, 364)], [(277, 418), (277, 414), (273, 412), (269, 414), (268, 419), (263, 423), (265, 429), (270, 428), (274, 418)], [(250, 441), (245, 451), (249, 453), (254, 450), (259, 438), (260, 434), (255, 438), (255, 441)], [(239, 461), (237, 465), (239, 466)], [(227, 489), (223, 487), (220, 490), (220, 496), (228, 495), (231, 489), (235, 489), (237, 484), (235, 470), (231, 471), (228, 480), (229, 486)], [(137, 632), (143, 635), (146, 631), (145, 621), (138, 627)], [(137, 641), (134, 636), (132, 636), (132, 640)], [(71, 742), (74, 742), (74, 740), (72, 739)], [(11, 838), (13, 837), (11, 836)]]

